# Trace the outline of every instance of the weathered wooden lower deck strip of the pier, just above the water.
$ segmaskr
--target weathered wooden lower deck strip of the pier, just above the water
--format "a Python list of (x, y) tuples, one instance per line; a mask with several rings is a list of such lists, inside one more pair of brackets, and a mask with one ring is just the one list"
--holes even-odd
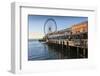
[(50, 39), (46, 41), (47, 43), (51, 44), (59, 44), (65, 46), (73, 46), (73, 47), (80, 47), (80, 48), (87, 48), (87, 39), (76, 39), (76, 40), (57, 40), (57, 39)]

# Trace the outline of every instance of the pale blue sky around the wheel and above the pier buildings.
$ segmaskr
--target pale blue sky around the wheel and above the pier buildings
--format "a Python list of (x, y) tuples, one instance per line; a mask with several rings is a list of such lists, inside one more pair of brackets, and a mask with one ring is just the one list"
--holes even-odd
[(44, 23), (49, 18), (56, 21), (57, 30), (88, 20), (87, 17), (28, 15), (29, 39), (40, 39), (44, 36)]

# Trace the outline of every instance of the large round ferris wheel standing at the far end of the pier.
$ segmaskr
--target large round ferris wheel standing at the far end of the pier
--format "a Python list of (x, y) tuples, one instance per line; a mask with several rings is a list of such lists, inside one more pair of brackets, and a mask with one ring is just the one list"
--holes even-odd
[(57, 24), (53, 18), (49, 18), (44, 23), (44, 34), (47, 35), (57, 31)]

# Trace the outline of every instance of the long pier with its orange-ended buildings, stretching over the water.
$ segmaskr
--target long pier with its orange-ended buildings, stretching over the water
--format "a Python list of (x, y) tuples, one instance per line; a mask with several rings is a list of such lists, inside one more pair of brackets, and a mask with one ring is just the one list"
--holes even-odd
[(83, 58), (88, 57), (87, 21), (73, 25), (70, 28), (48, 33), (44, 39), (48, 45), (67, 50), (74, 48), (77, 50), (77, 54), (79, 54), (79, 51), (82, 52), (81, 56)]

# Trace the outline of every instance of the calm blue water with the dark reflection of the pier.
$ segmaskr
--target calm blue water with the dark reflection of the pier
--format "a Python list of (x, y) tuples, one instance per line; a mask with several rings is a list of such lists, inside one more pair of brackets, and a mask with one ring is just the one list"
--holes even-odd
[[(80, 48), (78, 52), (76, 49), (74, 47), (62, 47), (39, 42), (38, 40), (30, 40), (28, 42), (28, 60), (83, 58), (81, 57), (82, 49)], [(87, 58), (87, 52), (85, 58)]]

